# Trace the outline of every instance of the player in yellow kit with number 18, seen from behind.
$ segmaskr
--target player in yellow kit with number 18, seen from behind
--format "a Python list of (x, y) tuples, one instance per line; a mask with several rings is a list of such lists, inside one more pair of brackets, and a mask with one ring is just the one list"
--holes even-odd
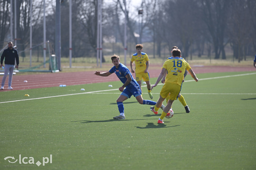
[(158, 109), (162, 106), (163, 101), (168, 97), (170, 93), (168, 103), (165, 106), (162, 112), (162, 115), (159, 117), (157, 123), (164, 123), (163, 122), (164, 117), (172, 107), (174, 100), (177, 100), (182, 87), (182, 81), (184, 78), (185, 70), (187, 69), (190, 75), (194, 78), (194, 80), (198, 81), (196, 74), (193, 72), (189, 64), (183, 58), (180, 58), (181, 57), (180, 50), (173, 49), (172, 55), (173, 55), (173, 58), (168, 59), (164, 63), (162, 67), (162, 71), (156, 80), (156, 83), (151, 87), (151, 90), (154, 87), (156, 87), (159, 81), (161, 81), (161, 79), (163, 78), (165, 71), (167, 71), (167, 76), (165, 79), (164, 86), (160, 91), (159, 99), (157, 100), (156, 105), (150, 108), (152, 112), (157, 113)]

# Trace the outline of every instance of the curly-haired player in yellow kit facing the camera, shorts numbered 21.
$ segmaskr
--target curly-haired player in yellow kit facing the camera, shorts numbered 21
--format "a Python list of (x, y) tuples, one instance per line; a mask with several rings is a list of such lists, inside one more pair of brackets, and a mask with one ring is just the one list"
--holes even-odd
[[(151, 93), (151, 84), (150, 84), (150, 77), (148, 74), (148, 67), (149, 67), (149, 59), (146, 53), (142, 53), (142, 44), (137, 44), (135, 45), (137, 53), (133, 54), (131, 57), (131, 71), (134, 73), (133, 69), (133, 62), (135, 62), (135, 79), (140, 85), (141, 88), (141, 81), (142, 79), (146, 82), (147, 84), (147, 90), (148, 94), (150, 96), (150, 99), (153, 99), (153, 95)], [(142, 89), (141, 89), (142, 92)]]

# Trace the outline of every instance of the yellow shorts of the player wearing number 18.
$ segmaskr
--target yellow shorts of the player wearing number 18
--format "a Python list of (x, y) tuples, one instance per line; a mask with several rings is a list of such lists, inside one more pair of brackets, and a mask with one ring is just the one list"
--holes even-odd
[(181, 86), (179, 84), (165, 82), (162, 90), (160, 91), (160, 95), (162, 98), (169, 97), (169, 100), (177, 100), (180, 90)]

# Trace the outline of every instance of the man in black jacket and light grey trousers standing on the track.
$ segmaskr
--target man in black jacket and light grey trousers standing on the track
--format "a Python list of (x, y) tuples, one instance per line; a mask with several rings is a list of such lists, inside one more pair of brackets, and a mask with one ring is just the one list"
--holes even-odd
[[(5, 58), (5, 60), (4, 60)], [(13, 43), (8, 42), (8, 48), (4, 50), (2, 56), (1, 56), (1, 65), (0, 67), (3, 66), (3, 61), (5, 64), (4, 67), (4, 77), (2, 79), (1, 83), (1, 88), (0, 90), (4, 90), (4, 83), (6, 80), (6, 77), (9, 73), (9, 80), (8, 80), (8, 89), (12, 90), (13, 88), (11, 87), (12, 85), (12, 78), (13, 78), (13, 71), (14, 71), (14, 65), (15, 65), (15, 59), (16, 59), (16, 68), (19, 66), (19, 55), (16, 49), (13, 48)]]

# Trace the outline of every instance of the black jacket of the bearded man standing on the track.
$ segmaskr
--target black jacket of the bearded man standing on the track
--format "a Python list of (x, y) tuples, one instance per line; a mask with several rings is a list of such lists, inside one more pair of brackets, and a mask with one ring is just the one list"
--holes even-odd
[[(5, 58), (5, 60), (4, 60)], [(2, 56), (1, 56), (1, 64), (10, 64), (10, 65), (15, 65), (15, 58), (16, 58), (16, 64), (19, 65), (19, 55), (18, 51), (16, 49), (10, 49), (7, 48), (4, 50)]]

